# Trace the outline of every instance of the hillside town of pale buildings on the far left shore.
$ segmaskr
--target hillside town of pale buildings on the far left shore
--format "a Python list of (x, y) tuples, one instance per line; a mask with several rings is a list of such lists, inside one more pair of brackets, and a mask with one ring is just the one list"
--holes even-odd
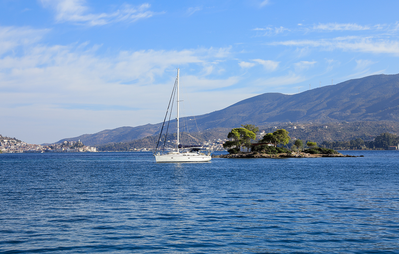
[(44, 152), (97, 152), (97, 148), (83, 146), (80, 141), (61, 144), (50, 144), (47, 146), (28, 144), (16, 138), (3, 137), (0, 134), (0, 152), (2, 153), (44, 153)]

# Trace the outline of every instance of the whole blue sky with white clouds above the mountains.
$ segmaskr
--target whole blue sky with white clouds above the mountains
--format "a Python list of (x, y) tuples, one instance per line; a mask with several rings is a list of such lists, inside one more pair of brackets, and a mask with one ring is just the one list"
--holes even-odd
[[(0, 0), (0, 134), (30, 144), (397, 74), (399, 1)], [(188, 103), (187, 103), (188, 102)]]

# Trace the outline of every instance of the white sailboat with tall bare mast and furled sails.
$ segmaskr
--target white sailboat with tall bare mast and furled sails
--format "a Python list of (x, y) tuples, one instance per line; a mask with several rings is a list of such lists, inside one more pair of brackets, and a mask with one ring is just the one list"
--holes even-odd
[[(205, 150), (202, 149), (201, 146), (183, 146), (182, 144), (180, 144), (180, 140), (179, 140), (179, 103), (180, 103), (180, 99), (179, 99), (179, 76), (180, 76), (180, 69), (177, 69), (177, 78), (175, 81), (175, 87), (173, 88), (172, 91), (172, 96), (170, 97), (170, 101), (169, 101), (169, 107), (170, 107), (170, 102), (172, 101), (172, 98), (174, 97), (174, 93), (177, 92), (177, 147), (176, 147), (176, 151), (172, 151), (172, 152), (167, 152), (164, 153), (164, 148), (165, 148), (165, 142), (166, 142), (166, 137), (167, 137), (167, 131), (166, 131), (166, 136), (165, 136), (165, 140), (164, 140), (164, 147), (162, 148), (162, 152), (157, 152), (158, 147), (160, 147), (160, 142), (161, 142), (161, 135), (162, 135), (162, 130), (164, 128), (165, 121), (166, 121), (166, 117), (168, 116), (168, 110), (166, 111), (166, 116), (164, 119), (164, 123), (162, 124), (162, 128), (161, 131), (159, 133), (159, 137), (158, 137), (158, 142), (156, 145), (156, 149), (154, 151), (154, 156), (155, 156), (155, 160), (156, 162), (200, 162), (200, 161), (210, 161), (211, 160), (211, 151), (210, 150)], [(176, 89), (176, 90), (175, 90)], [(173, 105), (173, 102), (172, 102)], [(172, 110), (172, 109), (171, 109)], [(169, 122), (170, 122), (170, 117), (169, 117), (169, 121), (168, 121), (168, 125), (169, 126)], [(167, 128), (168, 129), (168, 128)], [(160, 149), (161, 150), (161, 149)]]

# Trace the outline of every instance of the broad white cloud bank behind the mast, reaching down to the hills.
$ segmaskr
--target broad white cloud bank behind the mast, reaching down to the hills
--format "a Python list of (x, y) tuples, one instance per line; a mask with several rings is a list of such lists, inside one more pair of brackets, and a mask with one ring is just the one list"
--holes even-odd
[[(217, 71), (231, 55), (229, 47), (120, 51), (104, 57), (98, 55), (97, 45), (89, 47), (87, 42), (41, 45), (35, 31), (0, 27), (4, 35), (0, 45), (12, 45), (0, 55), (0, 116), (8, 119), (0, 128), (3, 134), (24, 141), (55, 142), (106, 128), (160, 122), (179, 65), (191, 103), (202, 105), (194, 107), (194, 114), (221, 109), (221, 104), (228, 106), (249, 96), (245, 89), (223, 101), (224, 91), (198, 96), (240, 81)], [(70, 126), (72, 122), (79, 125)], [(29, 132), (23, 130), (26, 126)], [(26, 136), (14, 134), (16, 130)]]

